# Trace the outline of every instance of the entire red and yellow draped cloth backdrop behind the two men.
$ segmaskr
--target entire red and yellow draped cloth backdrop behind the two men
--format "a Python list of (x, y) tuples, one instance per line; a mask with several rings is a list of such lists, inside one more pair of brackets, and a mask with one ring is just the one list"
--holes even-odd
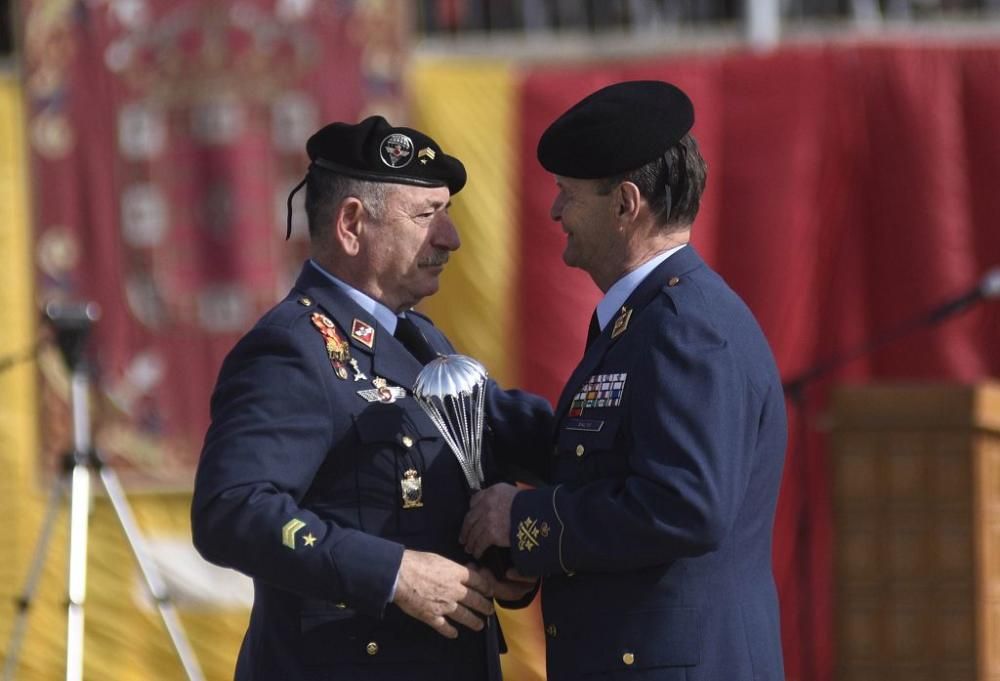
[[(402, 75), (405, 17), (376, 0), (23, 4), (23, 106), (13, 84), (0, 84), (0, 291), (11, 298), (0, 306), (11, 330), (3, 348), (34, 341), (41, 300), (101, 304), (97, 444), (129, 481), (179, 490), (133, 497), (153, 539), (187, 541), (184, 485), (219, 363), (287, 290), (305, 254), (301, 203), (297, 236), (282, 241), (305, 138), (334, 119), (404, 120), (404, 83), (409, 121), (470, 172), (453, 206), (463, 249), (426, 309), (504, 384), (553, 401), (599, 292), (561, 262), (564, 236), (548, 217), (554, 183), (535, 146), (569, 105), (614, 81), (671, 80), (694, 100), (710, 166), (694, 243), (757, 314), (786, 377), (1000, 264), (1000, 44), (856, 43), (576, 65), (421, 59)], [(37, 300), (25, 305), (32, 264)], [(835, 664), (821, 431), (830, 385), (975, 382), (1000, 376), (998, 347), (1000, 311), (984, 304), (854, 361), (792, 409), (774, 547), (790, 681), (829, 681)], [(37, 390), (27, 365), (0, 376), (10, 405), (0, 455), (11, 473), (0, 541), (15, 559), (3, 568), (6, 602), (37, 538), (38, 471), (52, 466), (68, 430), (59, 358), (40, 360)], [(180, 678), (101, 499), (92, 528), (88, 678)], [(64, 539), (57, 534), (32, 615), (26, 679), (62, 668)], [(228, 678), (245, 610), (182, 605), (209, 677)], [(537, 679), (537, 611), (518, 618), (505, 620), (518, 656), (505, 663), (508, 677)], [(0, 617), (0, 634), (9, 621)]]

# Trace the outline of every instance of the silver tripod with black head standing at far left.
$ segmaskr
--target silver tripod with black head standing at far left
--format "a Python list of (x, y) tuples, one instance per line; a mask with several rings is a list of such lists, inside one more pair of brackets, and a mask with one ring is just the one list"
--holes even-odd
[[(52, 539), (55, 519), (64, 494), (69, 496), (69, 569), (67, 576), (66, 681), (83, 679), (84, 600), (87, 593), (87, 534), (91, 506), (91, 475), (96, 473), (125, 533), (132, 554), (145, 579), (146, 587), (159, 610), (163, 624), (190, 681), (203, 681), (197, 657), (170, 600), (166, 584), (150, 559), (146, 543), (115, 472), (101, 459), (91, 440), (90, 377), (83, 356), (87, 335), (99, 310), (93, 303), (84, 306), (54, 306), (46, 313), (56, 330), (56, 341), (70, 370), (70, 413), (73, 448), (63, 456), (62, 472), (53, 480), (42, 529), (31, 559), (24, 591), (17, 599), (17, 614), (11, 627), (3, 680), (10, 681), (17, 670), (18, 656), (27, 630), (28, 614), (41, 579), (42, 568)], [(34, 355), (32, 350), (31, 355)], [(20, 360), (17, 360), (20, 361)]]

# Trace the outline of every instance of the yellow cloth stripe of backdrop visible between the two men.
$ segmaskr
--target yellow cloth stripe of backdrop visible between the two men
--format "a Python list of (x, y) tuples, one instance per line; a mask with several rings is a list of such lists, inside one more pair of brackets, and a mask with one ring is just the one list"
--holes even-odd
[[(462, 248), (445, 269), (441, 291), (422, 304), (460, 352), (482, 361), (502, 385), (518, 381), (514, 319), (517, 276), (517, 74), (510, 65), (415, 59), (407, 82), (414, 126), (460, 158), (469, 182), (451, 215)], [(509, 647), (507, 681), (545, 678), (538, 600), (501, 610)]]

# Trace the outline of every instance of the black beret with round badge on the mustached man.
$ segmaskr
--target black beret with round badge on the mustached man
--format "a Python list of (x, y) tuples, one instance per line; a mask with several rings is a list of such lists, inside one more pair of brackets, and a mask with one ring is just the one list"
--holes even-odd
[(447, 187), (465, 186), (465, 166), (437, 142), (412, 128), (394, 128), (381, 116), (357, 124), (331, 123), (306, 142), (313, 165), (373, 182)]

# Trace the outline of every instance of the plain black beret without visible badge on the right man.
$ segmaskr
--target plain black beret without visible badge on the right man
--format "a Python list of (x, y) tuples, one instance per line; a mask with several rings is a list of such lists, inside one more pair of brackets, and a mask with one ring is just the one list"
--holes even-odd
[(662, 156), (694, 125), (680, 88), (658, 80), (616, 83), (557, 118), (538, 142), (538, 161), (564, 177), (621, 175)]

